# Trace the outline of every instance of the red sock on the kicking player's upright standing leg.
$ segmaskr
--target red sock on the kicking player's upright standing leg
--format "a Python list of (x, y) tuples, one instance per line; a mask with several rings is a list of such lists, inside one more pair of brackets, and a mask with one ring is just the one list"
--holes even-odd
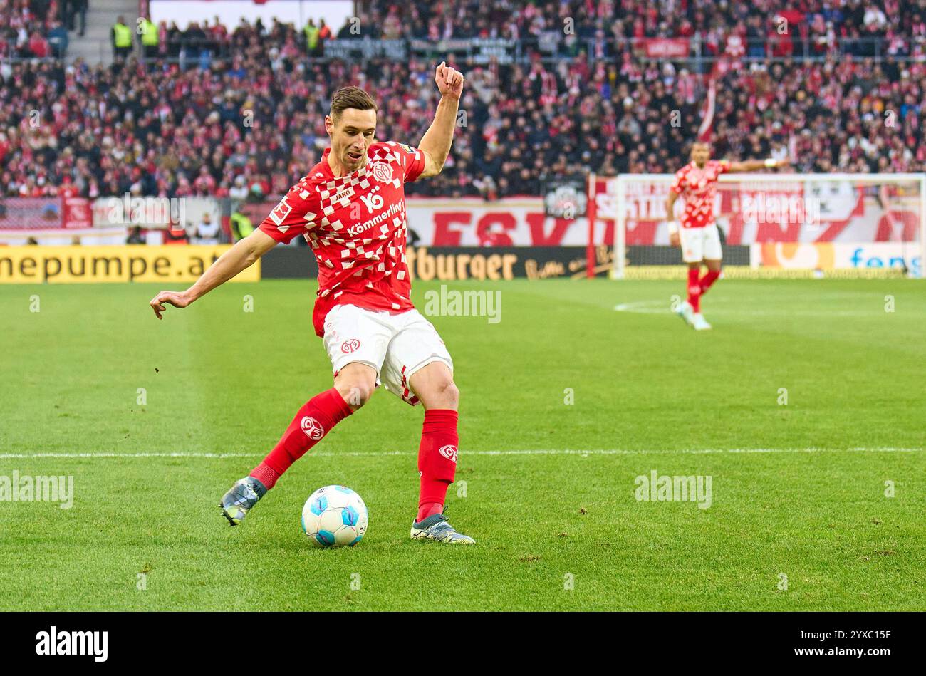
[(457, 411), (432, 408), (424, 412), (421, 444), (418, 448), (418, 471), (421, 491), (418, 519), (444, 511), (447, 488), (457, 473)]

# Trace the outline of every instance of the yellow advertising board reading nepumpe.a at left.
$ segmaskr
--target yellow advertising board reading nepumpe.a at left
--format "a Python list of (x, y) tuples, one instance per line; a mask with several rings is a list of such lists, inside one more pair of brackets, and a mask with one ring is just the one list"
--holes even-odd
[[(195, 282), (231, 244), (0, 247), (0, 283)], [(260, 280), (260, 261), (232, 282)]]

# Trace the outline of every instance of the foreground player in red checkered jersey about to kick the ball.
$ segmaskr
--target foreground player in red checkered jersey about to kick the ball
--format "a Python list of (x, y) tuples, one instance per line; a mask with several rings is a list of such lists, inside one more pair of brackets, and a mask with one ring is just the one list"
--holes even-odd
[(406, 262), (405, 183), (441, 172), (457, 123), (463, 75), (444, 63), (434, 75), (441, 100), (417, 148), (377, 142), (377, 106), (363, 90), (332, 96), (325, 128), (332, 145), (282, 198), (260, 227), (232, 246), (187, 291), (151, 301), (186, 307), (227, 282), (280, 242), (305, 237), (319, 263), (315, 332), (332, 360), (334, 383), (295, 414), (269, 455), (221, 501), (233, 525), (283, 472), (341, 420), (362, 407), (377, 385), (424, 407), (419, 445), (419, 508), (411, 536), (444, 543), (475, 541), (444, 517), (457, 469), (457, 403), (453, 361), (432, 323), (411, 303)]

